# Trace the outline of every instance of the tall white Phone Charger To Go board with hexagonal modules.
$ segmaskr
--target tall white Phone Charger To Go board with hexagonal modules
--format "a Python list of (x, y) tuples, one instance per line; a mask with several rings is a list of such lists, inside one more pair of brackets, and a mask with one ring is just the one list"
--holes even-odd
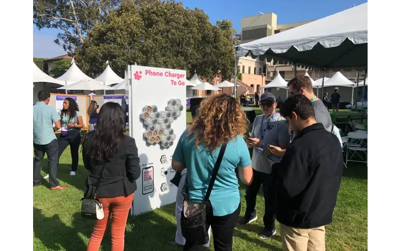
[(129, 124), (140, 159), (132, 215), (174, 203), (172, 155), (186, 128), (186, 72), (129, 66)]

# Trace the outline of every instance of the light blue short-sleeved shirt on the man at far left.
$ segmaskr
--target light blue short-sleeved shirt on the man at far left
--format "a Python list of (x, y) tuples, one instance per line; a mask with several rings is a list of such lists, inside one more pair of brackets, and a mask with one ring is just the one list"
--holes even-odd
[(57, 139), (53, 131), (53, 123), (60, 119), (55, 108), (41, 101), (36, 102), (34, 105), (34, 143), (47, 145)]

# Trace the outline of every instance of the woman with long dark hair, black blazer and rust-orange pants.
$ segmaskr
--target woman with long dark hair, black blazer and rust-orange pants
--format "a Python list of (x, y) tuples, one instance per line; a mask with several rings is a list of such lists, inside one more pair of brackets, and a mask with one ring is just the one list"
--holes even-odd
[(125, 225), (136, 190), (135, 180), (140, 176), (138, 149), (135, 140), (124, 135), (124, 128), (121, 106), (107, 102), (100, 109), (96, 130), (84, 139), (82, 157), (89, 170), (85, 197), (93, 196), (98, 186), (96, 198), (104, 209), (104, 218), (95, 221), (87, 251), (99, 249), (109, 213), (112, 215), (111, 249), (124, 250)]

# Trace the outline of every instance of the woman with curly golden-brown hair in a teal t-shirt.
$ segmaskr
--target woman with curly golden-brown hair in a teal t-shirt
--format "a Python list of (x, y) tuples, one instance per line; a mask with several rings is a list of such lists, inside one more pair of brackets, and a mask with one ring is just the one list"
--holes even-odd
[[(243, 139), (248, 120), (240, 102), (227, 94), (206, 98), (191, 126), (181, 135), (172, 157), (174, 170), (186, 171), (190, 201), (202, 202), (220, 149), (227, 144), (212, 193), (206, 201), (207, 227), (211, 226), (215, 250), (232, 250), (234, 227), (241, 211), (239, 179), (252, 183), (253, 171)], [(182, 172), (182, 171), (181, 171)], [(186, 241), (183, 250), (202, 250)]]

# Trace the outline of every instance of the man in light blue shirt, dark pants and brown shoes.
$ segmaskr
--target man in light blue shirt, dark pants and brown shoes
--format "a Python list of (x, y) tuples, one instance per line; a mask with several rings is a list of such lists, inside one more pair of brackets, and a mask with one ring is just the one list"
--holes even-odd
[[(60, 116), (54, 108), (48, 106), (50, 101), (49, 92), (40, 91), (38, 98), (39, 102), (34, 105), (34, 187), (42, 184), (42, 161), (46, 153), (49, 163), (50, 189), (65, 189), (68, 186), (61, 186), (57, 181), (59, 145), (54, 131), (61, 128)], [(53, 123), (55, 124), (54, 128)]]

